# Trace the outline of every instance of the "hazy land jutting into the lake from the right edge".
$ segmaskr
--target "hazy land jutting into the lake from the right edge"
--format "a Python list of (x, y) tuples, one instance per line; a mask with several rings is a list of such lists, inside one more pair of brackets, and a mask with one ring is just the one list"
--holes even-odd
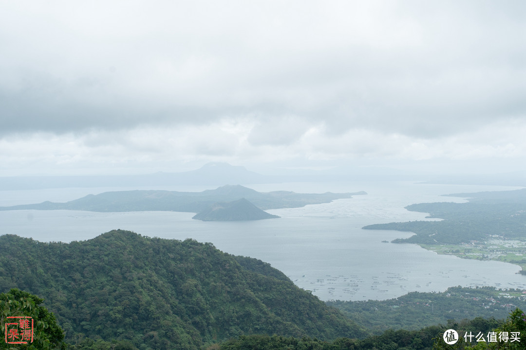
[(517, 264), (526, 274), (526, 188), (457, 193), (443, 196), (468, 198), (467, 203), (420, 203), (407, 210), (429, 213), (441, 221), (374, 224), (368, 230), (398, 230), (413, 236), (393, 243), (416, 243), (439, 254), (464, 259), (496, 260)]

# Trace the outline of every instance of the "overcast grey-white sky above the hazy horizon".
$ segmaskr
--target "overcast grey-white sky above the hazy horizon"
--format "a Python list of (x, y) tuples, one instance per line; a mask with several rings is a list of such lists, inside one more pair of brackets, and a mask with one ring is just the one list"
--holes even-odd
[(524, 18), (523, 1), (1, 1), (0, 176), (523, 169)]

